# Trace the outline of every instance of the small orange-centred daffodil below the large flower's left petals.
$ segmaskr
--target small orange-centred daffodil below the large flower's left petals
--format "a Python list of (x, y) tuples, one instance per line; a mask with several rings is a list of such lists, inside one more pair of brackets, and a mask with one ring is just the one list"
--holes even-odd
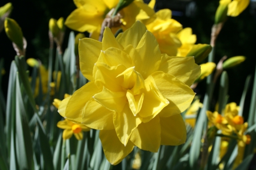
[(82, 139), (82, 131), (89, 131), (90, 128), (88, 128), (85, 125), (82, 124), (75, 124), (72, 121), (69, 121), (67, 119), (63, 120), (63, 121), (59, 121), (57, 123), (57, 127), (60, 129), (64, 129), (63, 134), (62, 134), (62, 138), (64, 140), (69, 139), (72, 137), (72, 135), (74, 134), (77, 140), (81, 140)]

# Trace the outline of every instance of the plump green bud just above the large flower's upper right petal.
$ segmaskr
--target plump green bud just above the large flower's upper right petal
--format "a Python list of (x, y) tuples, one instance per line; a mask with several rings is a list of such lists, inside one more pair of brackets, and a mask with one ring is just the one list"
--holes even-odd
[(195, 62), (200, 63), (208, 57), (211, 50), (212, 46), (209, 44), (195, 44), (193, 45), (193, 48), (188, 52), (187, 57), (194, 56)]

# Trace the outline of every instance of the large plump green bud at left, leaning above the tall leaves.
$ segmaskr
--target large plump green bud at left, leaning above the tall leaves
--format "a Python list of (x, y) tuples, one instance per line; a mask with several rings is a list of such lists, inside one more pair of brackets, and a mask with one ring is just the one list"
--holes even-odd
[(23, 33), (19, 24), (14, 19), (5, 18), (5, 32), (20, 50), (23, 50)]

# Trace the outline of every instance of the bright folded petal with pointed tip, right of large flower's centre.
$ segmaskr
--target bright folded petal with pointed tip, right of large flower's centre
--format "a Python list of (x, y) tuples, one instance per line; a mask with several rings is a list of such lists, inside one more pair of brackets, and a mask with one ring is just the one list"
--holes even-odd
[(143, 91), (144, 99), (139, 116), (143, 117), (143, 122), (148, 122), (161, 112), (169, 104), (169, 101), (158, 90), (152, 76), (148, 76), (145, 80), (145, 86), (146, 90)]

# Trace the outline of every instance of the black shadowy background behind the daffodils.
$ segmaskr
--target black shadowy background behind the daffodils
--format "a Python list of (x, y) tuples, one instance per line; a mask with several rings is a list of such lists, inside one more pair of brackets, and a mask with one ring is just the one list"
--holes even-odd
[[(67, 16), (75, 10), (72, 0), (1, 0), (0, 6), (13, 3), (13, 12), (10, 18), (18, 22), (23, 35), (27, 40), (26, 58), (38, 58), (44, 65), (48, 65), (48, 22), (50, 18), (59, 19)], [(197, 36), (197, 42), (209, 44), (210, 31), (214, 23), (214, 15), (218, 7), (218, 0), (156, 0), (155, 10), (170, 8), (172, 18), (185, 27), (191, 27)], [(234, 69), (228, 70), (229, 75), (229, 102), (240, 103), (243, 86), (247, 75), (254, 76), (256, 63), (256, 20), (255, 4), (249, 7), (239, 16), (230, 17), (221, 30), (216, 42), (216, 60), (223, 56), (246, 56), (246, 61)], [(67, 46), (67, 39), (71, 29), (66, 29), (63, 48)], [(77, 32), (76, 32), (77, 33)], [(0, 57), (5, 58), (6, 74), (3, 76), (2, 89), (6, 95), (9, 77), (10, 63), (14, 59), (15, 51), (5, 31), (0, 32)], [(246, 97), (245, 114), (249, 111), (252, 83), (249, 94)], [(216, 86), (218, 90), (218, 82)], [(196, 89), (197, 94), (205, 92), (205, 82), (201, 82)], [(217, 99), (218, 91), (214, 93)], [(245, 115), (246, 118), (246, 115)]]

